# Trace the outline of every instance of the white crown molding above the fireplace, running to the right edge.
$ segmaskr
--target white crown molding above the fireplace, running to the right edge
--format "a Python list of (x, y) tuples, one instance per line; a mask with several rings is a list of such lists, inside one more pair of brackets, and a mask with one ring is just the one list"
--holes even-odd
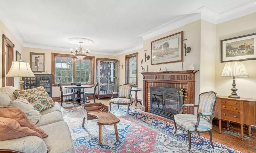
[(174, 19), (170, 22), (167, 22), (153, 30), (150, 30), (146, 33), (143, 33), (137, 38), (142, 38), (143, 40), (150, 39), (152, 37), (155, 37), (157, 35), (160, 35), (162, 33), (168, 32), (170, 30), (179, 28), (181, 26), (184, 26), (186, 24), (195, 22), (199, 19), (211, 22), (213, 24), (219, 24), (222, 22), (226, 22), (232, 19), (236, 19), (251, 13), (256, 12), (256, 1), (253, 1), (251, 3), (247, 3), (245, 5), (241, 5), (239, 7), (233, 8), (229, 11), (218, 13), (215, 12), (207, 7), (201, 7), (197, 10), (190, 12), (184, 16), (181, 16), (177, 19)]

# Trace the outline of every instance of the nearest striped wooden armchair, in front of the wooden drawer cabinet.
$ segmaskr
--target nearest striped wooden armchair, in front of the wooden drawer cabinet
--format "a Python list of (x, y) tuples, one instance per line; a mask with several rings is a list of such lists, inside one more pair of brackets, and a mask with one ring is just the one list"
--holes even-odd
[[(177, 132), (177, 125), (182, 129), (187, 130), (188, 136), (188, 151), (191, 149), (191, 134), (208, 132), (210, 135), (211, 146), (212, 142), (212, 118), (215, 109), (216, 100), (218, 95), (216, 92), (204, 92), (199, 95), (199, 105), (182, 104), (182, 110), (179, 114), (174, 115), (174, 134)], [(197, 115), (194, 114), (181, 114), (183, 107), (197, 107)]]

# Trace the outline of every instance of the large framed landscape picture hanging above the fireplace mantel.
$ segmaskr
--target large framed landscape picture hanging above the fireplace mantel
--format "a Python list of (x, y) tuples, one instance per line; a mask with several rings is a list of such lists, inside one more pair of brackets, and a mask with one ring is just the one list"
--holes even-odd
[(183, 31), (151, 42), (151, 65), (183, 61)]

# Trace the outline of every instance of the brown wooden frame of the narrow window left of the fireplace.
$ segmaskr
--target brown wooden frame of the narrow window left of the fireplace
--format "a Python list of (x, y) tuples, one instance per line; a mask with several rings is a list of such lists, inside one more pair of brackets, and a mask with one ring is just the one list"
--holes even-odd
[[(132, 87), (138, 88), (138, 54), (139, 52), (125, 55), (125, 84), (128, 84)], [(136, 57), (136, 85), (129, 83), (129, 59), (132, 57)]]

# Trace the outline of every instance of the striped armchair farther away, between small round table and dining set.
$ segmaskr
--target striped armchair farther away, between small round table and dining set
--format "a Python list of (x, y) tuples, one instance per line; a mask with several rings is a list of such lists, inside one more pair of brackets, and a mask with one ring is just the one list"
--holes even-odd
[[(113, 99), (113, 94), (118, 94), (117, 98)], [(118, 92), (113, 92), (112, 93), (112, 97), (109, 100), (109, 107), (111, 111), (111, 103), (112, 104), (117, 104), (118, 105), (118, 109), (119, 109), (119, 105), (128, 105), (128, 109), (127, 109), (127, 113), (129, 114), (129, 109), (130, 109), (130, 104), (131, 104), (131, 86), (127, 85), (127, 84), (123, 84), (118, 86)]]

